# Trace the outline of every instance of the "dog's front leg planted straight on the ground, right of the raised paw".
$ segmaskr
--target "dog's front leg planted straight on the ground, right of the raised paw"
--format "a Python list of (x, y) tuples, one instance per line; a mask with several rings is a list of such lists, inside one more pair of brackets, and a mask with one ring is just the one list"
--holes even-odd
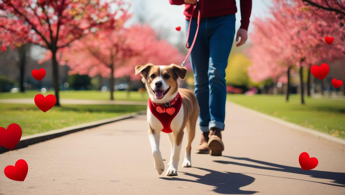
[(174, 142), (174, 151), (172, 152), (172, 159), (167, 169), (165, 175), (167, 176), (176, 176), (177, 175), (177, 167), (178, 161), (180, 160), (180, 152), (182, 146), (182, 138), (183, 138), (183, 130), (179, 131), (178, 133), (174, 134), (175, 142)]

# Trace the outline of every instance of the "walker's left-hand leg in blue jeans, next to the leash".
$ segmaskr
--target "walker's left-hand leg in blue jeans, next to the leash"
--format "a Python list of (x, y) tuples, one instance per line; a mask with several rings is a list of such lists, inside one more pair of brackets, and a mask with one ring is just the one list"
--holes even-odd
[[(186, 31), (188, 30), (189, 20), (186, 22)], [(197, 28), (197, 20), (193, 19), (190, 25), (188, 44), (191, 45)], [(208, 59), (209, 59), (209, 41), (206, 32), (205, 21), (200, 21), (198, 35), (190, 53), (191, 67), (194, 72), (194, 94), (198, 100), (200, 108), (199, 120), (200, 129), (208, 132), (210, 122), (209, 113), (209, 82), (208, 82)]]

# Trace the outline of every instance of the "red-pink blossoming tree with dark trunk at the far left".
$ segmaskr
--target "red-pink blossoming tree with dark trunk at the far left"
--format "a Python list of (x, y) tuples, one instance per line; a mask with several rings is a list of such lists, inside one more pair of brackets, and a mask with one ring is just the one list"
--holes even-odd
[[(51, 52), (56, 106), (59, 102), (57, 53), (97, 29), (114, 27), (128, 5), (122, 0), (1, 0), (1, 44), (23, 39)], [(111, 9), (113, 8), (113, 9)], [(115, 9), (114, 9), (115, 8)]]

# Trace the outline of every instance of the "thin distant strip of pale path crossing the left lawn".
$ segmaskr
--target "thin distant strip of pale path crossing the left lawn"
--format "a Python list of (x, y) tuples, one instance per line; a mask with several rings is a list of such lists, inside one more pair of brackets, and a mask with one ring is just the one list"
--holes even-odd
[[(0, 103), (11, 104), (35, 104), (33, 98), (0, 99)], [(124, 104), (124, 105), (147, 105), (147, 101), (125, 101), (125, 100), (86, 100), (86, 99), (60, 99), (60, 104)]]

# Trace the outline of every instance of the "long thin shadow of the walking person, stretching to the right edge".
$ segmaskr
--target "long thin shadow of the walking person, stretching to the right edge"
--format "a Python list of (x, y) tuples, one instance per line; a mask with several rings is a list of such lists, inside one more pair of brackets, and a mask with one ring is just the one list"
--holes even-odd
[[(336, 183), (336, 184), (329, 184), (329, 183), (323, 183), (323, 182), (316, 182), (316, 183), (345, 187), (345, 173), (327, 172), (327, 171), (320, 171), (320, 170), (302, 170), (302, 168), (300, 168), (300, 167), (290, 167), (290, 166), (285, 166), (285, 165), (278, 165), (278, 164), (268, 163), (268, 162), (264, 162), (264, 161), (260, 161), (260, 160), (254, 160), (254, 159), (250, 159), (250, 158), (239, 158), (239, 157), (231, 157), (231, 156), (224, 156), (224, 157), (237, 159), (237, 160), (247, 160), (249, 162), (259, 163), (259, 164), (268, 165), (268, 166), (272, 166), (272, 167), (263, 167), (263, 166), (258, 166), (258, 165), (249, 165), (249, 164), (244, 164), (244, 163), (237, 163), (237, 162), (223, 161), (223, 160), (214, 160), (214, 162), (222, 163), (222, 164), (247, 166), (247, 167), (253, 167), (253, 168), (261, 168), (261, 169), (267, 169), (267, 170), (276, 170), (276, 171), (282, 171), (282, 172), (288, 172), (288, 173), (310, 175), (314, 178), (334, 180), (333, 183)], [(273, 167), (277, 167), (277, 168), (273, 168)], [(240, 173), (237, 173), (237, 174), (240, 174)], [(244, 173), (244, 174), (246, 174), (246, 173)], [(257, 174), (257, 175), (259, 175), (259, 174)], [(273, 176), (273, 175), (267, 175), (267, 176), (277, 177), (277, 176)], [(283, 178), (287, 178), (287, 177), (283, 177)], [(289, 178), (289, 179), (295, 179), (295, 178)], [(297, 180), (303, 180), (303, 179), (297, 179)], [(303, 180), (303, 181), (308, 181), (308, 180)], [(309, 181), (309, 182), (314, 182), (314, 181)], [(337, 185), (337, 184), (341, 184), (341, 185)]]

